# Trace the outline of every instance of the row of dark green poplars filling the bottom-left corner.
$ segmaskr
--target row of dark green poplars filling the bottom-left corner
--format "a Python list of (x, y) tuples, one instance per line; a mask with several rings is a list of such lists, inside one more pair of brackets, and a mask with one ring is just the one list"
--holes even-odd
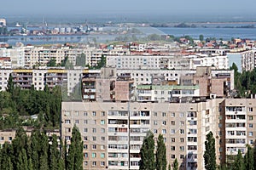
[[(77, 130), (74, 130), (72, 139), (78, 144), (73, 145), (75, 153), (70, 153), (75, 160), (73, 169), (83, 169), (83, 142)], [(68, 152), (65, 154), (69, 155)], [(64, 170), (64, 162), (67, 162), (64, 159), (58, 137), (55, 134), (48, 137), (44, 129), (35, 129), (29, 138), (23, 128), (19, 128), (12, 143), (6, 142), (0, 149), (1, 170)]]

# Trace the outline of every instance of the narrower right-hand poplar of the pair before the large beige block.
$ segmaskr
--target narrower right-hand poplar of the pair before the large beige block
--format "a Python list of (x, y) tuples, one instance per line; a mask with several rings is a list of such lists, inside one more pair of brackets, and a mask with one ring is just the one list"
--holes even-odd
[(158, 136), (157, 139), (157, 150), (155, 154), (155, 166), (157, 170), (166, 170), (166, 144), (164, 142), (164, 137), (162, 134)]

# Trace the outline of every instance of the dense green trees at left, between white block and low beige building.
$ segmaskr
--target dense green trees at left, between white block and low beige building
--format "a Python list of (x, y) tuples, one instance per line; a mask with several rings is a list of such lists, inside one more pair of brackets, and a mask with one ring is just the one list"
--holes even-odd
[[(61, 88), (22, 90), (15, 87), (12, 79), (10, 75), (6, 91), (0, 92), (0, 129), (25, 125), (59, 127)], [(38, 120), (32, 120), (32, 115), (38, 115)]]

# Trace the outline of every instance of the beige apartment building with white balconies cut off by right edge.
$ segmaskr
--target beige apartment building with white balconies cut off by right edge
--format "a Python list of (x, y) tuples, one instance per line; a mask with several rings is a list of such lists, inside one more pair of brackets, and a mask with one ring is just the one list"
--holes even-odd
[[(254, 97), (254, 96), (253, 96)], [(244, 155), (247, 144), (253, 145), (256, 131), (256, 99), (225, 99), (225, 152), (226, 161), (234, 161), (238, 150)]]

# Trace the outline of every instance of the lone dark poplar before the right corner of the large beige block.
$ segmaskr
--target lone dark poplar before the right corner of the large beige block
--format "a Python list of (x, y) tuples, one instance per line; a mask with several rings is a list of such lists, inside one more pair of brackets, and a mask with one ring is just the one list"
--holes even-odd
[(206, 151), (204, 153), (205, 167), (207, 170), (216, 169), (216, 154), (215, 154), (215, 139), (212, 131), (207, 134), (207, 141), (205, 142)]

